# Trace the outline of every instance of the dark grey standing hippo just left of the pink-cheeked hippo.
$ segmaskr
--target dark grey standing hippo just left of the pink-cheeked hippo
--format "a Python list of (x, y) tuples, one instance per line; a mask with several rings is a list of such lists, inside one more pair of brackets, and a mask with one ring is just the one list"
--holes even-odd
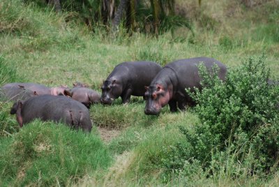
[(158, 63), (152, 61), (120, 63), (103, 82), (100, 102), (110, 105), (120, 96), (122, 103), (129, 103), (130, 96), (144, 97), (144, 86), (149, 85), (161, 69)]

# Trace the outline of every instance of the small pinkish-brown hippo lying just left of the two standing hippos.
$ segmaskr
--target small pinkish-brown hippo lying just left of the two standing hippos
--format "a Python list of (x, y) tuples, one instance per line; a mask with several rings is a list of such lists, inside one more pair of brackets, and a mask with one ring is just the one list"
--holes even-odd
[(74, 100), (84, 104), (87, 108), (90, 108), (92, 104), (100, 103), (100, 94), (86, 87), (73, 87), (73, 89), (65, 89), (63, 94), (70, 96)]

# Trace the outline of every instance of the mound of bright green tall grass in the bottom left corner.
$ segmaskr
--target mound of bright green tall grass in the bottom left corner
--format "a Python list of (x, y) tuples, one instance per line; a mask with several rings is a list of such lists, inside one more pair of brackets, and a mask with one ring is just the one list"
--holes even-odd
[(63, 124), (33, 121), (0, 142), (0, 181), (8, 186), (73, 183), (110, 165), (100, 137)]

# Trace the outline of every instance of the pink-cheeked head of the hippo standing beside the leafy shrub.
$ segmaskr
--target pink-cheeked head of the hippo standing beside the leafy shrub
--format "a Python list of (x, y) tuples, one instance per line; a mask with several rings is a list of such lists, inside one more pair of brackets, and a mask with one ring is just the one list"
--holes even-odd
[(162, 84), (155, 84), (155, 86), (145, 87), (144, 93), (146, 105), (144, 113), (146, 115), (158, 115), (162, 107), (169, 103), (170, 94), (167, 87)]

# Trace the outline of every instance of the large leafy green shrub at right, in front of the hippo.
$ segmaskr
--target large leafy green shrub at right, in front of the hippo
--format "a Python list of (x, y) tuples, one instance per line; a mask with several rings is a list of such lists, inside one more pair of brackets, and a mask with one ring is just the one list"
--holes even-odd
[(230, 69), (225, 82), (217, 72), (217, 66), (213, 73), (199, 67), (204, 89), (188, 93), (197, 102), (201, 124), (181, 128), (185, 142), (176, 144), (164, 161), (166, 171), (172, 171), (167, 176), (190, 176), (197, 163), (206, 175), (223, 173), (232, 179), (278, 167), (279, 88), (267, 84), (270, 75), (264, 57)]

